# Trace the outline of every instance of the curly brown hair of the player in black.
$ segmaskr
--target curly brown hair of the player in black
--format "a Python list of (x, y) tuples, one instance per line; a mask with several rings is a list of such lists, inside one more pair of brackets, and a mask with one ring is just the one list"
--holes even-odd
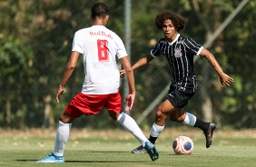
[(156, 15), (154, 19), (154, 24), (157, 28), (162, 29), (162, 24), (165, 20), (172, 20), (172, 24), (174, 25), (177, 32), (184, 29), (189, 19), (182, 17), (182, 15), (177, 15), (172, 13), (172, 11), (166, 10), (159, 15)]

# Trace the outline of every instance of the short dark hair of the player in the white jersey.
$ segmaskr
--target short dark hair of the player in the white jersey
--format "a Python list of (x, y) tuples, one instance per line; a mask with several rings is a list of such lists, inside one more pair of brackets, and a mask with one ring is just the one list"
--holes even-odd
[(109, 10), (107, 5), (103, 3), (97, 3), (92, 7), (92, 17), (95, 18), (98, 17), (105, 17), (106, 15), (109, 15)]

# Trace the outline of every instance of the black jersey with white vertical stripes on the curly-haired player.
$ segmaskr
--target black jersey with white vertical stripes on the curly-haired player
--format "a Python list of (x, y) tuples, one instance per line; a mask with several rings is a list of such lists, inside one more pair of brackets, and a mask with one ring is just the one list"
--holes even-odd
[(194, 93), (197, 89), (196, 76), (193, 71), (193, 56), (199, 55), (202, 45), (192, 38), (185, 38), (178, 34), (172, 43), (166, 38), (159, 40), (151, 54), (157, 57), (163, 54), (172, 69), (172, 84), (183, 87), (185, 92)]

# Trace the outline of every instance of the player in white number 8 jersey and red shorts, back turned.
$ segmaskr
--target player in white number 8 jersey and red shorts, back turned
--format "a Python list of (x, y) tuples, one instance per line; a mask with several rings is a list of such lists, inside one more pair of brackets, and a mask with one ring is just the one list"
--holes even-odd
[(74, 72), (74, 67), (80, 54), (83, 54), (84, 84), (82, 92), (74, 96), (64, 113), (60, 114), (59, 127), (56, 133), (54, 152), (37, 162), (64, 162), (64, 146), (68, 141), (71, 123), (82, 115), (94, 115), (103, 107), (113, 120), (123, 127), (143, 144), (153, 161), (158, 159), (158, 151), (154, 144), (144, 136), (143, 132), (128, 114), (122, 113), (122, 100), (119, 93), (120, 76), (115, 57), (122, 62), (127, 74), (129, 94), (125, 98), (125, 111), (133, 107), (135, 97), (134, 76), (132, 65), (125, 51), (121, 38), (107, 29), (109, 9), (103, 3), (92, 7), (93, 25), (77, 31), (74, 34), (73, 49), (66, 64), (64, 75), (56, 93), (56, 102), (64, 93), (64, 85)]

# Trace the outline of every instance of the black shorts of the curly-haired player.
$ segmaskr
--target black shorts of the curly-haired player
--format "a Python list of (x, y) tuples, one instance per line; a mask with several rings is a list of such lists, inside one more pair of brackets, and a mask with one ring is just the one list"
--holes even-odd
[(182, 89), (170, 86), (170, 90), (166, 96), (175, 108), (182, 108), (188, 104), (194, 93), (186, 93)]

